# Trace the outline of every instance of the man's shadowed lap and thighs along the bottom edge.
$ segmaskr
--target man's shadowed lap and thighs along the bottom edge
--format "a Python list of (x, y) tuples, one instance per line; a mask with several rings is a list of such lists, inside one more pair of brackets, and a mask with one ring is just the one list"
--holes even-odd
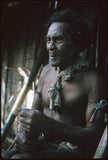
[(64, 149), (51, 149), (44, 150), (41, 152), (29, 154), (29, 153), (18, 153), (16, 149), (6, 151), (2, 153), (3, 159), (63, 159), (63, 158), (80, 158), (80, 154), (77, 152), (69, 152)]

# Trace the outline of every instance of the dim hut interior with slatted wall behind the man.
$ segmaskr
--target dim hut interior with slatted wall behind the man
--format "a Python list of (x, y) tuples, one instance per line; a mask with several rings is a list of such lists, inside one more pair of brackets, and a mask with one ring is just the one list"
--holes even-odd
[[(38, 72), (22, 103), (31, 108), (42, 67), (48, 62), (44, 45), (44, 25), (57, 9), (77, 10), (94, 32), (88, 59), (92, 67), (107, 73), (107, 5), (97, 1), (4, 1), (1, 21), (1, 129), (18, 95), (27, 82), (33, 64), (39, 59)], [(19, 116), (8, 130), (2, 151), (9, 148), (19, 129)]]

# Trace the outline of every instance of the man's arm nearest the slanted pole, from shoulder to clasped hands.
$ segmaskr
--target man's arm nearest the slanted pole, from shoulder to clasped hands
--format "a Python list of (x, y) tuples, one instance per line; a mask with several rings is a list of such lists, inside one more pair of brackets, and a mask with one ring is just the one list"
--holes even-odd
[[(20, 118), (24, 119), (21, 120), (20, 130), (17, 133), (15, 138), (16, 140), (16, 147), (21, 152), (31, 152), (36, 149), (37, 147), (37, 139), (40, 133), (40, 125), (39, 123), (35, 123), (35, 111), (42, 114), (43, 106), (42, 106), (42, 97), (41, 97), (41, 88), (43, 85), (43, 77), (45, 77), (47, 69), (46, 67), (43, 68), (40, 78), (39, 84), (37, 88), (37, 92), (33, 99), (32, 109), (22, 109), (20, 112)], [(38, 119), (40, 120), (39, 116)], [(31, 146), (31, 147), (29, 147)]]

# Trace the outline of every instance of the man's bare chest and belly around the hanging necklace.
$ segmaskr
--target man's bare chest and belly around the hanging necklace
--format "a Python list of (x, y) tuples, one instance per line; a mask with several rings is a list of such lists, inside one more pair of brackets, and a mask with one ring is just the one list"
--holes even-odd
[(65, 123), (84, 125), (84, 113), (86, 108), (85, 87), (82, 78), (73, 78), (70, 81), (61, 81), (61, 112), (49, 109), (50, 98), (48, 91), (52, 83), (57, 79), (56, 74), (45, 77), (42, 86), (42, 99), (45, 104), (44, 114)]

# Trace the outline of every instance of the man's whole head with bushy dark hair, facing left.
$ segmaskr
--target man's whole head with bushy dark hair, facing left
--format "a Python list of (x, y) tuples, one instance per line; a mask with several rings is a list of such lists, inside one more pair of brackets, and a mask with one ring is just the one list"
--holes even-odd
[(57, 11), (47, 23), (46, 47), (52, 66), (62, 66), (75, 60), (91, 42), (87, 25), (71, 9)]

